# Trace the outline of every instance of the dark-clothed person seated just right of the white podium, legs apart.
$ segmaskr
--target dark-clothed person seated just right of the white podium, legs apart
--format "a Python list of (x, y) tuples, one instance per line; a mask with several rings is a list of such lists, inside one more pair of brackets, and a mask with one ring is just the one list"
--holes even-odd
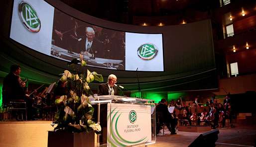
[(162, 98), (159, 104), (156, 106), (155, 110), (159, 122), (156, 125), (156, 134), (159, 133), (163, 123), (169, 129), (171, 135), (177, 134), (175, 132), (175, 120), (172, 118), (171, 113), (168, 111), (166, 99)]

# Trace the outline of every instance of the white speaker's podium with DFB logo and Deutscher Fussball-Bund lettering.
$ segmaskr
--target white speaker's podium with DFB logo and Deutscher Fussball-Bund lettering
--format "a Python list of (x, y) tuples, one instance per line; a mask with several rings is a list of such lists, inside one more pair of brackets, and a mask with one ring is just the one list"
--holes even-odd
[[(150, 99), (121, 96), (98, 96), (91, 101), (98, 104), (98, 123), (102, 113), (100, 105), (107, 104), (107, 144), (101, 147), (147, 146), (156, 142), (155, 104)], [(99, 144), (99, 136), (97, 140)]]

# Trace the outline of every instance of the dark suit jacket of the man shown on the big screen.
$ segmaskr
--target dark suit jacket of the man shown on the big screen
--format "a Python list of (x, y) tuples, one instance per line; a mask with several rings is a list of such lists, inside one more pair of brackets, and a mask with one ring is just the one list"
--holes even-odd
[[(81, 51), (86, 51), (85, 44), (86, 44), (86, 37), (82, 37), (82, 40), (80, 41), (79, 49), (75, 52), (80, 53)], [(94, 38), (89, 53), (93, 53), (95, 57), (104, 58), (105, 50), (104, 50), (103, 42)]]

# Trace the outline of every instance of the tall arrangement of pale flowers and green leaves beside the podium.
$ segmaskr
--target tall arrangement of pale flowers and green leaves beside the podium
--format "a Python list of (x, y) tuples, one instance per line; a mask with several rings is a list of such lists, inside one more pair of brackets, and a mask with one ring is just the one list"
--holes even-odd
[(73, 59), (69, 66), (79, 62), (84, 71), (82, 74), (79, 74), (78, 70), (76, 74), (65, 70), (60, 78), (61, 82), (67, 82), (68, 94), (55, 100), (58, 112), (55, 114), (56, 121), (53, 127), (55, 131), (66, 129), (71, 132), (89, 132), (94, 130), (100, 133), (100, 124), (92, 121), (94, 108), (89, 97), (93, 97), (93, 92), (89, 84), (95, 80), (103, 82), (103, 77), (96, 72), (86, 70), (86, 61), (82, 54), (80, 54), (80, 59)]

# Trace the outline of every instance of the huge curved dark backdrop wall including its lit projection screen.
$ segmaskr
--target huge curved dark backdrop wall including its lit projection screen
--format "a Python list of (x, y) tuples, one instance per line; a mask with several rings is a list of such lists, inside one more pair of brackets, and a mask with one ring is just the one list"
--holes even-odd
[[(59, 74), (65, 69), (71, 70), (67, 66), (69, 58), (76, 57), (81, 52), (79, 49), (85, 52), (88, 46), (85, 38), (89, 36), (86, 35), (85, 29), (89, 28), (94, 30), (94, 38), (97, 39), (89, 46), (93, 48), (96, 46), (94, 43), (98, 42), (98, 45), (106, 48), (106, 56), (97, 57), (100, 55), (97, 49), (103, 48), (94, 47), (94, 56), (87, 58), (90, 65), (88, 68), (103, 74), (105, 82), (108, 75), (114, 73), (118, 76), (117, 84), (130, 91), (137, 91), (139, 87), (142, 91), (154, 92), (218, 88), (211, 20), (183, 25), (145, 27), (99, 19), (75, 10), (60, 0), (25, 0), (30, 6), (22, 3), (27, 7), (24, 7), (24, 12), (21, 13), (17, 7), (20, 2), (21, 0), (4, 0), (4, 7), (0, 9), (0, 16), (4, 20), (0, 26), (0, 77), (9, 72), (11, 64), (20, 64), (22, 78), (28, 77), (29, 80), (47, 83), (56, 82)], [(40, 5), (39, 9), (34, 6), (35, 4)], [(26, 12), (30, 12), (31, 18), (26, 18)], [(45, 17), (46, 13), (50, 14)], [(58, 18), (67, 18), (67, 22), (57, 19), (57, 15)], [(28, 27), (30, 20), (32, 26)], [(14, 25), (13, 22), (17, 24)], [(59, 24), (64, 28), (58, 27)], [(17, 32), (12, 29), (16, 29)], [(70, 32), (73, 34), (69, 34)], [(154, 40), (151, 36), (156, 42), (151, 42)], [(67, 44), (72, 41), (76, 43), (66, 46), (65, 42), (63, 43), (65, 39)], [(140, 39), (143, 42), (140, 43)], [(41, 44), (42, 41), (48, 44)], [(114, 51), (118, 54), (108, 54), (113, 51), (112, 49), (119, 49)], [(147, 52), (143, 49), (147, 49)], [(133, 54), (128, 53), (129, 51)], [(150, 54), (146, 55), (147, 53)], [(151, 63), (154, 60), (156, 62)], [(93, 83), (92, 88), (97, 89), (98, 85)]]

